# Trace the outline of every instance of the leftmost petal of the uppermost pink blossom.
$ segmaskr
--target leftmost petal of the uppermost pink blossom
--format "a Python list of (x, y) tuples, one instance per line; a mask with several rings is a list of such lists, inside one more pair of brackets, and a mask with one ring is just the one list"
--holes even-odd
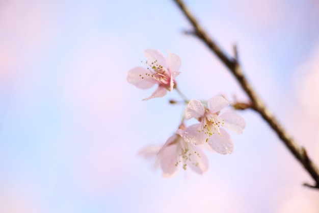
[(151, 74), (147, 69), (142, 67), (132, 68), (128, 70), (126, 80), (128, 83), (134, 84), (140, 89), (148, 89), (152, 87), (156, 81), (154, 81), (148, 75), (145, 75), (146, 73)]

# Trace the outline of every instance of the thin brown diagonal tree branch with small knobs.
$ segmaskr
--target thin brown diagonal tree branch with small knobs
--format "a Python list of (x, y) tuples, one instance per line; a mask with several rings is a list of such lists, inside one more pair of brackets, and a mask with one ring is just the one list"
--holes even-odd
[(202, 40), (208, 46), (208, 48), (217, 55), (217, 57), (228, 67), (230, 72), (237, 79), (238, 83), (240, 83), (240, 85), (250, 98), (252, 104), (251, 108), (258, 112), (262, 116), (262, 118), (270, 125), (270, 127), (277, 133), (278, 137), (283, 141), (291, 154), (293, 154), (297, 158), (297, 160), (303, 165), (305, 170), (308, 171), (310, 176), (315, 181), (314, 186), (311, 186), (309, 184), (304, 185), (319, 188), (319, 171), (315, 163), (308, 157), (306, 150), (303, 147), (300, 147), (296, 143), (296, 141), (284, 130), (284, 128), (277, 121), (276, 117), (257, 96), (251, 84), (244, 76), (241, 66), (238, 63), (237, 50), (235, 49), (235, 58), (227, 56), (227, 54), (221, 50), (218, 44), (205, 33), (194, 16), (185, 7), (184, 3), (181, 0), (173, 1), (178, 5), (183, 14), (192, 23), (192, 26), (194, 28), (194, 35)]

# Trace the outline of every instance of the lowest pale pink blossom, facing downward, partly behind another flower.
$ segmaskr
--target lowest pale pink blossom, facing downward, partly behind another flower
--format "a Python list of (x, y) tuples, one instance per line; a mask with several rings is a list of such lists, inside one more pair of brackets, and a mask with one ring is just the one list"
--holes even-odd
[[(208, 169), (208, 159), (201, 146), (186, 143), (180, 136), (182, 133), (183, 130), (177, 130), (176, 134), (169, 137), (161, 149), (158, 148), (157, 163), (161, 165), (164, 177), (176, 174), (180, 165), (184, 170), (189, 167), (198, 174), (203, 174)], [(149, 158), (151, 155), (154, 156), (155, 152), (156, 147), (149, 146), (141, 150), (139, 154)]]

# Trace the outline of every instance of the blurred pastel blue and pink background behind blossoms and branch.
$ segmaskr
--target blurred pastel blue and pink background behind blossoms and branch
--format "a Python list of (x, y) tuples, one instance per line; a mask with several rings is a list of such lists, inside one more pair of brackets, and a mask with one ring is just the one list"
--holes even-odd
[[(186, 1), (278, 120), (319, 163), (319, 2)], [(319, 192), (251, 110), (234, 153), (203, 176), (162, 177), (138, 156), (179, 125), (173, 91), (126, 82), (145, 49), (182, 60), (189, 98), (246, 101), (172, 1), (0, 1), (0, 212), (319, 212)]]

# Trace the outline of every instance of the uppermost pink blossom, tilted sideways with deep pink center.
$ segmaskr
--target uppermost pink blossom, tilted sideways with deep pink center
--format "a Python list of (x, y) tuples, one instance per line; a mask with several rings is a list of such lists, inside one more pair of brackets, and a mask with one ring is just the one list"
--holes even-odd
[(180, 58), (173, 53), (168, 52), (168, 58), (158, 50), (145, 50), (147, 57), (147, 69), (135, 67), (128, 71), (126, 80), (141, 89), (148, 89), (155, 84), (158, 88), (153, 94), (143, 99), (143, 101), (164, 97), (167, 90), (172, 91), (175, 84), (175, 78), (180, 74), (177, 70), (180, 67)]

